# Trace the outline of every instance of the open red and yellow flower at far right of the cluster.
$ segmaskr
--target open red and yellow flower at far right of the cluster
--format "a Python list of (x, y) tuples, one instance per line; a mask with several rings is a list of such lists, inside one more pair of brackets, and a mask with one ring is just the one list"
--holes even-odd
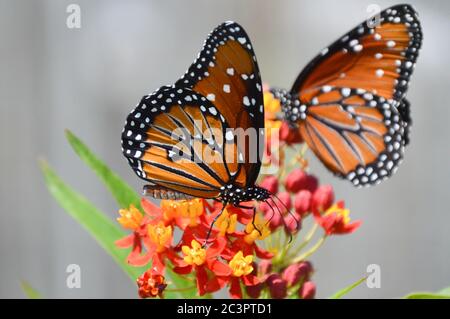
[(323, 215), (317, 215), (315, 218), (327, 236), (342, 235), (354, 232), (361, 225), (360, 220), (351, 223), (349, 215), (350, 210), (345, 208), (343, 201), (339, 201), (328, 208)]

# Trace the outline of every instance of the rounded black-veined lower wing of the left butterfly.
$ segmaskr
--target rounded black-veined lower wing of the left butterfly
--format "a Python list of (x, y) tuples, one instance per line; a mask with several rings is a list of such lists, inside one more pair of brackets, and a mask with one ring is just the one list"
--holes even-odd
[(151, 184), (216, 198), (227, 183), (247, 180), (230, 129), (203, 95), (162, 87), (144, 96), (129, 114), (122, 149), (135, 173)]

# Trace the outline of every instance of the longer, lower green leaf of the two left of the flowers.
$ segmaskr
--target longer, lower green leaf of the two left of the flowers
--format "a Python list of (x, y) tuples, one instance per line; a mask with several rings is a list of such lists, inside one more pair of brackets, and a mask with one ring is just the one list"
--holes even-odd
[(134, 282), (145, 269), (128, 265), (126, 262), (128, 251), (114, 244), (116, 240), (126, 235), (125, 232), (86, 198), (66, 185), (45, 161), (40, 162), (40, 167), (47, 188), (56, 201), (94, 237)]

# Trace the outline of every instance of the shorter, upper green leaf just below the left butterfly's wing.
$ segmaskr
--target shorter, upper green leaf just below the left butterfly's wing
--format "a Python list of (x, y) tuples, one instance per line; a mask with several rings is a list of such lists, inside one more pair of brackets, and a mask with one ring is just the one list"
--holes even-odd
[[(108, 190), (115, 198), (120, 208), (127, 208), (130, 204), (141, 209), (140, 196), (114, 173), (103, 161), (101, 161), (91, 150), (71, 131), (66, 130), (66, 137), (78, 156), (97, 174)], [(142, 209), (141, 209), (142, 211)]]

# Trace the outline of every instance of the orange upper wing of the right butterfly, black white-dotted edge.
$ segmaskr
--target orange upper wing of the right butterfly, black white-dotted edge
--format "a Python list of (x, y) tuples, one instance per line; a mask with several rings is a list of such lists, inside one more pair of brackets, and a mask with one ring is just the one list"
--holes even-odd
[(292, 92), (307, 101), (331, 85), (400, 101), (422, 44), (420, 22), (409, 5), (388, 8), (379, 18), (378, 26), (363, 22), (325, 48), (300, 73)]

